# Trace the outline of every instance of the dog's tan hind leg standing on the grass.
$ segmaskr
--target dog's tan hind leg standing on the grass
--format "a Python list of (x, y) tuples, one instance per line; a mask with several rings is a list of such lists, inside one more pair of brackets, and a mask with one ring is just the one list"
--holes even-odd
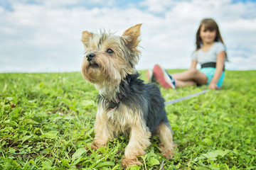
[(174, 157), (174, 147), (176, 147), (173, 141), (171, 126), (168, 122), (161, 122), (156, 128), (156, 133), (159, 135), (161, 142), (160, 148), (163, 156), (166, 159), (171, 159)]

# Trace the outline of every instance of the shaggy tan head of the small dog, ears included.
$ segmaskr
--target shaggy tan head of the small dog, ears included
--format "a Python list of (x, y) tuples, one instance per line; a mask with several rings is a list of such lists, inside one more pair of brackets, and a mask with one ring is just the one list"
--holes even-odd
[(133, 74), (139, 61), (140, 27), (137, 24), (124, 31), (122, 36), (113, 33), (82, 32), (85, 57), (82, 77), (92, 84), (117, 86), (127, 74)]

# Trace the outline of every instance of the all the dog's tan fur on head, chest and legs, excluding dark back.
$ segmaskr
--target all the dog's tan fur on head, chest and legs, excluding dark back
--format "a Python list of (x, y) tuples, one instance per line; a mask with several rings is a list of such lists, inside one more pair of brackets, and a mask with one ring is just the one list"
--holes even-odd
[[(140, 108), (130, 108), (120, 102), (118, 107), (108, 108), (112, 101), (116, 101), (119, 94), (119, 84), (127, 74), (136, 73), (134, 65), (139, 61), (140, 27), (137, 24), (124, 31), (122, 36), (112, 33), (94, 34), (82, 32), (82, 43), (85, 46), (85, 57), (82, 61), (82, 77), (95, 84), (104, 100), (99, 100), (95, 122), (95, 138), (90, 144), (92, 149), (107, 145), (107, 141), (124, 134), (129, 137), (129, 144), (124, 152), (122, 165), (141, 165), (138, 156), (144, 155), (149, 147), (151, 132), (146, 126), (146, 120)], [(114, 52), (107, 52), (111, 49)], [(87, 55), (95, 57), (88, 60)], [(162, 143), (162, 151), (166, 157), (173, 154), (174, 148), (170, 129), (159, 125), (157, 132)], [(166, 134), (164, 134), (166, 133)], [(169, 142), (169, 143), (168, 143)], [(171, 156), (170, 156), (171, 157)]]

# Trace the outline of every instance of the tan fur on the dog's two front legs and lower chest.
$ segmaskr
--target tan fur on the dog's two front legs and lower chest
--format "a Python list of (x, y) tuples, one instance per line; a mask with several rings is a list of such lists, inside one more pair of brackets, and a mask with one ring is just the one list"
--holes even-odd
[[(149, 147), (151, 132), (149, 132), (142, 113), (135, 113), (127, 106), (119, 106), (114, 110), (104, 111), (104, 104), (100, 103), (95, 123), (95, 139), (90, 147), (97, 149), (107, 144), (108, 140), (119, 134), (129, 135), (129, 144), (124, 152), (123, 166), (141, 165), (138, 156), (144, 155), (144, 150)], [(121, 114), (120, 114), (121, 113)]]

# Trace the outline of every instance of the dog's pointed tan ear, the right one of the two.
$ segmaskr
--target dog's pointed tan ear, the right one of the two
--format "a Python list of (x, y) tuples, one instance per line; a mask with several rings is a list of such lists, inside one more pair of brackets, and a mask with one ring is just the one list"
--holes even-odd
[(140, 28), (142, 26), (142, 23), (139, 23), (135, 26), (132, 26), (131, 28), (128, 28), (124, 31), (122, 37), (125, 39), (125, 42), (127, 42), (127, 46), (131, 49), (137, 47), (139, 45), (139, 35), (140, 35)]

